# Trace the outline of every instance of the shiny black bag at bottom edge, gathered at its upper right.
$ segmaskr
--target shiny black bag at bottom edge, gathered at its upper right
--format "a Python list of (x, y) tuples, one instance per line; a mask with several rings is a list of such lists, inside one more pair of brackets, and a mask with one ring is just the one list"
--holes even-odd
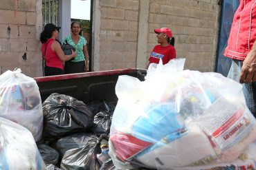
[(101, 152), (100, 150), (101, 138), (98, 138), (95, 135), (91, 135), (91, 136), (86, 136), (86, 138), (84, 139), (86, 139), (84, 140), (84, 147), (69, 149), (64, 153), (64, 156), (62, 158), (62, 162), (60, 165), (62, 169), (68, 169), (68, 170), (100, 169), (100, 162), (97, 159), (97, 154)]

